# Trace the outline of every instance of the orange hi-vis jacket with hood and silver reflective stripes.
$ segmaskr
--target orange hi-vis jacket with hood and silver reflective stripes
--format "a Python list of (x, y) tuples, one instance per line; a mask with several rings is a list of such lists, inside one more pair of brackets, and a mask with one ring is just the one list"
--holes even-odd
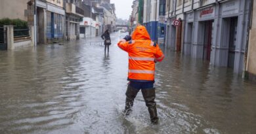
[(119, 42), (119, 48), (129, 54), (129, 80), (154, 81), (155, 61), (164, 56), (158, 44), (150, 40), (146, 27), (139, 25), (132, 36), (133, 41)]

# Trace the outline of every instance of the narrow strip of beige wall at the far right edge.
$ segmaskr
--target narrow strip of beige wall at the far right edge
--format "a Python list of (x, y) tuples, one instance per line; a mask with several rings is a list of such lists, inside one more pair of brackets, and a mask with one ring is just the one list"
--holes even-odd
[(249, 31), (249, 46), (248, 46), (248, 59), (247, 59), (247, 71), (256, 75), (256, 0), (253, 0), (253, 18), (251, 30)]

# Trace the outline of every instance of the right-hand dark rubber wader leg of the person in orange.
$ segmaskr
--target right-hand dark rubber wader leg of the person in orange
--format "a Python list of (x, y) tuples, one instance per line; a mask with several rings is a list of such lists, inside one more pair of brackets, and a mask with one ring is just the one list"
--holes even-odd
[(146, 103), (146, 107), (148, 107), (148, 112), (150, 114), (150, 120), (153, 124), (158, 124), (158, 112), (156, 110), (156, 92), (155, 88), (142, 89), (142, 95), (144, 97), (144, 101)]

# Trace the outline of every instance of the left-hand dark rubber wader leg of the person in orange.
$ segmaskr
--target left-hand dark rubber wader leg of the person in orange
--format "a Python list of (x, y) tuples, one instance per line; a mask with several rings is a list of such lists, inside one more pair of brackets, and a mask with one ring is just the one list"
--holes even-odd
[(137, 90), (131, 86), (127, 87), (127, 91), (125, 93), (125, 95), (126, 95), (125, 110), (123, 111), (123, 114), (129, 115), (131, 113), (132, 108), (133, 108), (133, 101), (138, 92), (139, 92), (139, 90)]

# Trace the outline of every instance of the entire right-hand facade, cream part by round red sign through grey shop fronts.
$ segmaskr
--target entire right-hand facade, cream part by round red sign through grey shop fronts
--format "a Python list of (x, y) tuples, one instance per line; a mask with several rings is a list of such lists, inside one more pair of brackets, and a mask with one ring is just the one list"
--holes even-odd
[[(250, 0), (169, 0), (165, 45), (242, 73), (249, 5)], [(175, 26), (177, 20), (179, 26)]]

